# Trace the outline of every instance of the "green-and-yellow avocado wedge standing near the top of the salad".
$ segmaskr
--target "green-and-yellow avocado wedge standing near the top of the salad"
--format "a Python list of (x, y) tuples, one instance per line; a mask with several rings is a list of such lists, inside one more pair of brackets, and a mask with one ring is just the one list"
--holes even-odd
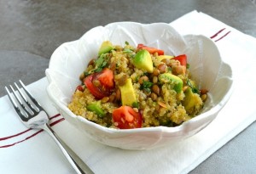
[(138, 69), (146, 70), (149, 73), (152, 73), (154, 68), (150, 53), (145, 49), (136, 53), (133, 59), (133, 65)]

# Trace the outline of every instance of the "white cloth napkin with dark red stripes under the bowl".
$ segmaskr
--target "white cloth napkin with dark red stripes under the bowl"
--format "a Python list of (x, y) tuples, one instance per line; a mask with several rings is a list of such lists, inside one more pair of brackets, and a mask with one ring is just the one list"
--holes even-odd
[[(252, 102), (256, 98), (256, 81), (252, 77), (256, 74), (253, 67), (256, 65), (256, 39), (196, 11), (183, 15), (171, 25), (181, 34), (212, 36), (213, 41), (220, 39), (216, 44), (224, 61), (231, 65), (234, 72), (235, 90), (230, 101), (216, 120), (195, 136), (168, 147), (146, 151), (116, 149), (96, 143), (67, 121), (52, 126), (95, 173), (187, 173), (256, 120), (256, 108)], [(48, 81), (43, 78), (28, 88), (50, 116), (56, 115), (51, 120), (55, 122), (61, 119), (61, 115), (57, 115), (57, 110), (49, 101), (45, 92), (47, 84)], [(74, 173), (46, 132), (29, 138), (37, 132), (31, 130), (4, 139), (27, 128), (20, 123), (7, 96), (0, 98), (0, 107), (1, 173)], [(13, 143), (16, 144), (3, 148)]]

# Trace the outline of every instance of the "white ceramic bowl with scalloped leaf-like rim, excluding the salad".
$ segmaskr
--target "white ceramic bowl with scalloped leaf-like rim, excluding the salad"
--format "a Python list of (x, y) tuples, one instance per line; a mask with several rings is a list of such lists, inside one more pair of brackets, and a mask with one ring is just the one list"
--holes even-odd
[[(193, 79), (200, 88), (209, 90), (201, 114), (181, 126), (156, 126), (131, 130), (118, 130), (97, 125), (67, 108), (79, 75), (96, 54), (103, 41), (124, 46), (138, 43), (164, 49), (166, 54), (186, 53)], [(121, 149), (152, 149), (180, 141), (201, 131), (218, 115), (228, 101), (232, 89), (232, 70), (220, 57), (218, 48), (206, 36), (181, 36), (164, 23), (138, 24), (119, 22), (97, 26), (86, 32), (78, 41), (63, 43), (55, 50), (46, 70), (49, 80), (47, 92), (65, 119), (97, 142)], [(209, 135), (210, 136), (210, 135)]]

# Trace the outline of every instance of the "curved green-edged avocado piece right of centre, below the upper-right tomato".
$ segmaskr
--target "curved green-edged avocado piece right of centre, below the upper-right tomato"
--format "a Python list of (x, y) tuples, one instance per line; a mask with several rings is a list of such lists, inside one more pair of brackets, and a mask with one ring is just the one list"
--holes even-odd
[(160, 74), (159, 80), (162, 83), (171, 83), (174, 84), (173, 89), (176, 93), (181, 93), (183, 91), (183, 80), (178, 76), (172, 75), (171, 73)]

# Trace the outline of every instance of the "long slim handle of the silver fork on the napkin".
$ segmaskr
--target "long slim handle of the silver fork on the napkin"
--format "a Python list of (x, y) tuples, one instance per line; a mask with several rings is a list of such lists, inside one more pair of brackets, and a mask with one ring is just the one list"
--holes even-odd
[(62, 153), (65, 155), (65, 157), (67, 158), (68, 162), (71, 164), (71, 166), (73, 166), (73, 169), (78, 173), (78, 174), (84, 174), (84, 171), (82, 171), (82, 169), (79, 167), (79, 165), (75, 162), (75, 160), (73, 160), (73, 158), (71, 157), (70, 154), (68, 154), (67, 150), (63, 147), (63, 145), (61, 144), (61, 141), (59, 140), (59, 138), (57, 137), (57, 135), (55, 134), (55, 132), (52, 130), (52, 128), (48, 125), (45, 124), (43, 127), (44, 131), (49, 133), (50, 137), (53, 138), (55, 140), (55, 143), (58, 144), (59, 148), (61, 149)]

